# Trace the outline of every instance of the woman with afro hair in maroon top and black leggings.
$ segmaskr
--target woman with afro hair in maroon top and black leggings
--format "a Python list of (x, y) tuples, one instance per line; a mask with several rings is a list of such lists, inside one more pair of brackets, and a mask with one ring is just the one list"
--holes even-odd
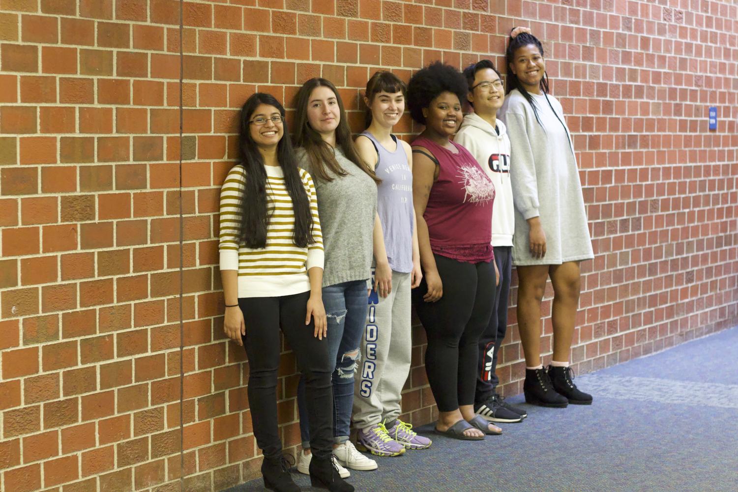
[(451, 137), (461, 123), (466, 79), (431, 63), (410, 79), (407, 104), (425, 125), (413, 141), (413, 204), (423, 280), (413, 291), (427, 333), (425, 368), (438, 403), (435, 431), (481, 440), (500, 428), (475, 415), (477, 342), (497, 283), (492, 249), (494, 185)]

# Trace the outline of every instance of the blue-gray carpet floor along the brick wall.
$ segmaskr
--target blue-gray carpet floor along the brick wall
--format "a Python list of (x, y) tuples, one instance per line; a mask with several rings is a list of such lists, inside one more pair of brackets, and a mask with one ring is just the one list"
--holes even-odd
[[(350, 481), (368, 492), (738, 491), (737, 360), (738, 328), (680, 344), (576, 378), (592, 406), (525, 405), (523, 423), (479, 442), (422, 426), (430, 448), (377, 458)], [(258, 479), (227, 492), (263, 490)]]

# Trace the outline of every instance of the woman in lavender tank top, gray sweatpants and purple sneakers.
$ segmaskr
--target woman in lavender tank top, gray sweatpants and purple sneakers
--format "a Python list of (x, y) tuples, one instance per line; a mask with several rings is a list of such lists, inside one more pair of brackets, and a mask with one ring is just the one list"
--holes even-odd
[(356, 373), (354, 415), (357, 447), (376, 456), (399, 456), (430, 446), (427, 437), (398, 419), (401, 391), (410, 373), (410, 289), (420, 285), (418, 235), (413, 210), (410, 145), (392, 134), (404, 112), (407, 87), (390, 72), (367, 83), (367, 130), (356, 138), (377, 185), (372, 292)]

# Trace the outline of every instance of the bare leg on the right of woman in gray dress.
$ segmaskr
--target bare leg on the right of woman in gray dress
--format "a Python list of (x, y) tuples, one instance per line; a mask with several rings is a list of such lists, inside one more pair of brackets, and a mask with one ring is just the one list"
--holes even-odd
[[(569, 361), (571, 339), (576, 325), (576, 310), (579, 308), (581, 280), (579, 262), (568, 261), (552, 265), (551, 283), (554, 284), (554, 303), (551, 306), (551, 322), (554, 325), (554, 361)], [(521, 338), (523, 336), (521, 335)]]

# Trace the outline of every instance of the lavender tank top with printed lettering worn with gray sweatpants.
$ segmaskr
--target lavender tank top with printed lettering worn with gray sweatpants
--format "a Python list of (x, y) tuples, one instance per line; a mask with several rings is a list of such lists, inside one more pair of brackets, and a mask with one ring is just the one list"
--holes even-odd
[(396, 136), (390, 152), (368, 131), (362, 133), (374, 144), (377, 162), (374, 172), (382, 182), (377, 185), (377, 212), (384, 233), (384, 248), (390, 268), (400, 273), (413, 271), (413, 174), (407, 154)]

